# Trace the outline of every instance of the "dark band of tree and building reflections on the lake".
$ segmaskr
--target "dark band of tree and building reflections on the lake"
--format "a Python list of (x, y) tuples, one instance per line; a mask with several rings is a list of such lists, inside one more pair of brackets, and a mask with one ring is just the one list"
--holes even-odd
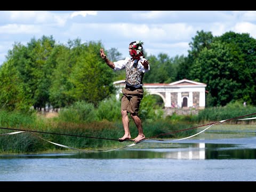
[[(12, 158), (84, 158), (84, 159), (143, 159), (143, 158), (170, 158), (170, 159), (256, 159), (256, 149), (254, 143), (242, 144), (226, 144), (211, 143), (211, 140), (200, 140), (195, 142), (191, 140), (189, 143), (166, 142), (146, 143), (148, 148), (127, 148), (105, 153), (76, 153), (71, 154), (36, 154), (36, 155), (0, 155), (0, 159)], [(250, 145), (249, 145), (250, 144)], [(253, 147), (251, 146), (253, 144)], [(161, 148), (159, 148), (161, 146)], [(143, 145), (141, 146), (143, 147)]]

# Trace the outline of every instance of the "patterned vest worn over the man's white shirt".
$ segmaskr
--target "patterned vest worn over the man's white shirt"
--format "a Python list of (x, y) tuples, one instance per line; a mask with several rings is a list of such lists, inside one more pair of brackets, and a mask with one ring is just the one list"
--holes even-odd
[(132, 67), (130, 67), (131, 65), (131, 59), (130, 59), (125, 66), (125, 74), (126, 74), (125, 83), (130, 83), (131, 85), (143, 84), (142, 79), (143, 79), (144, 73), (138, 70), (138, 60), (136, 60), (135, 62), (133, 63)]

